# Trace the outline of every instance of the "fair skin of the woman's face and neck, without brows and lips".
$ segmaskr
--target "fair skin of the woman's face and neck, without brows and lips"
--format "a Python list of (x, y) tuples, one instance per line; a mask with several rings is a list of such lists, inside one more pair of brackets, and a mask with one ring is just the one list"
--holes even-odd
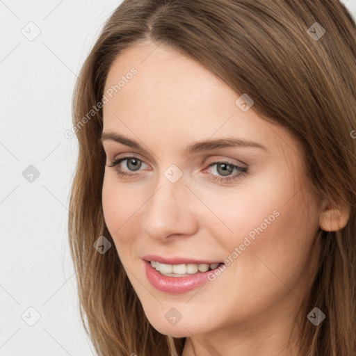
[[(105, 91), (132, 67), (138, 73), (104, 105), (103, 132), (120, 133), (145, 151), (103, 141), (102, 204), (149, 323), (162, 334), (186, 337), (184, 356), (297, 356), (286, 346), (318, 268), (317, 229), (343, 227), (347, 212), (316, 200), (290, 133), (267, 123), (253, 106), (241, 111), (235, 104), (240, 95), (202, 65), (147, 42), (116, 58)], [(253, 140), (266, 150), (184, 154), (191, 143), (216, 138)], [(119, 165), (135, 177), (120, 177), (118, 166), (108, 166), (123, 154), (140, 160), (137, 171), (133, 160)], [(214, 181), (225, 177), (220, 168), (226, 161), (248, 172), (232, 170), (227, 177), (241, 176)], [(164, 175), (172, 164), (183, 174), (175, 183)], [(279, 216), (213, 282), (173, 294), (147, 280), (145, 254), (224, 261), (273, 211)], [(182, 316), (175, 325), (165, 319), (172, 307)]]

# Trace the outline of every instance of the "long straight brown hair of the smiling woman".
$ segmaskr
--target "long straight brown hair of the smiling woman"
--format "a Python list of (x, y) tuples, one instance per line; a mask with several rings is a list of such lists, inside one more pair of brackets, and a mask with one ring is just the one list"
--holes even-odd
[[(185, 341), (149, 324), (115, 248), (93, 248), (100, 236), (113, 244), (101, 195), (106, 76), (124, 49), (145, 40), (199, 61), (236, 98), (247, 93), (264, 120), (302, 143), (318, 197), (350, 204), (346, 227), (319, 229), (298, 346), (300, 355), (356, 355), (356, 25), (338, 0), (124, 0), (108, 19), (74, 89), (79, 157), (68, 227), (81, 321), (98, 355), (180, 356)], [(317, 327), (307, 320), (316, 306), (327, 316)]]

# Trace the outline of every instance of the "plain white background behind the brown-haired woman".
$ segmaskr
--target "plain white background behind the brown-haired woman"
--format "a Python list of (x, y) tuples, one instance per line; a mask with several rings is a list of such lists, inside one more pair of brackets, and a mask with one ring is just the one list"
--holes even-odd
[[(76, 76), (120, 3), (0, 0), (0, 356), (94, 355), (67, 243), (77, 147), (64, 133)], [(356, 18), (356, 0), (343, 3)]]

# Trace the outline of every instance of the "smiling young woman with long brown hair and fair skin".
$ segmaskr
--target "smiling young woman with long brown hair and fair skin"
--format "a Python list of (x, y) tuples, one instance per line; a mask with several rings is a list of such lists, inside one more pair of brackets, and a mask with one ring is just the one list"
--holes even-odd
[(73, 106), (98, 355), (355, 355), (355, 83), (337, 0), (115, 10)]

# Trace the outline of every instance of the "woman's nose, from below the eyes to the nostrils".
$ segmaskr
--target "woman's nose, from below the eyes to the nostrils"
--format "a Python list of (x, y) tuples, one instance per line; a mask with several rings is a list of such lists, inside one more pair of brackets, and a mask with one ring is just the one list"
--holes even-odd
[(181, 177), (172, 183), (163, 176), (155, 188), (144, 205), (143, 233), (159, 241), (195, 234), (198, 226), (197, 209), (201, 207), (185, 179)]

